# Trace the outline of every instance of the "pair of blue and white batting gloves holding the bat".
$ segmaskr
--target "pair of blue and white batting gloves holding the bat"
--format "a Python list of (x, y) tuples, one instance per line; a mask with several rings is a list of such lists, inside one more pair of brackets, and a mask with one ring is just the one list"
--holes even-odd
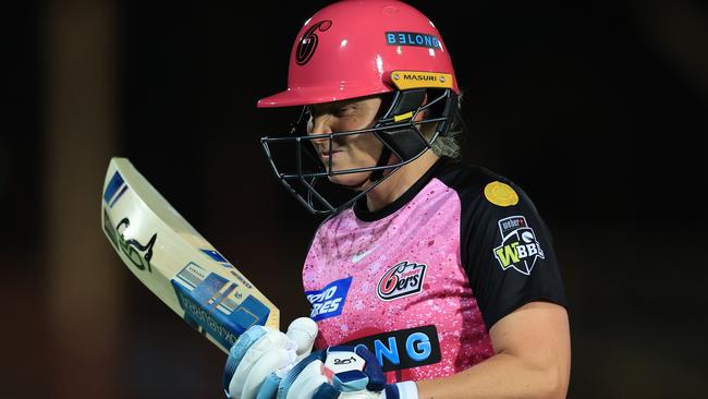
[(288, 334), (264, 326), (244, 332), (231, 348), (223, 375), (233, 399), (418, 399), (415, 383), (386, 384), (365, 346), (330, 347), (310, 354), (317, 325), (294, 321)]

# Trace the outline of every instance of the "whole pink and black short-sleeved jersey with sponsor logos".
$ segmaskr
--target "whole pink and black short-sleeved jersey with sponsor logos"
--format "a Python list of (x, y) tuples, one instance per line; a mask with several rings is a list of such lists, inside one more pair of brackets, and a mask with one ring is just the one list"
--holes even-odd
[(362, 201), (327, 219), (303, 283), (316, 346), (364, 343), (389, 382), (459, 373), (493, 354), (489, 328), (509, 313), (530, 301), (566, 306), (530, 200), (449, 158), (383, 209)]

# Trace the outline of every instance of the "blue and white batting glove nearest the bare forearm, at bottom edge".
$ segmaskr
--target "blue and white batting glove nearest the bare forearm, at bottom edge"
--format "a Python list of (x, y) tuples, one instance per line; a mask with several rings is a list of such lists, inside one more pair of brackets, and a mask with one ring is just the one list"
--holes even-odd
[[(386, 384), (376, 356), (358, 344), (312, 353), (278, 382), (266, 380), (259, 399), (418, 399), (413, 382)], [(261, 396), (263, 394), (263, 396)]]

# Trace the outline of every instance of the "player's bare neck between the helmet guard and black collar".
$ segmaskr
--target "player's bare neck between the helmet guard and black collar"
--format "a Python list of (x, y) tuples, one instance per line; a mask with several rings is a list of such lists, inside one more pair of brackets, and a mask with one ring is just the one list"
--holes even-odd
[(366, 206), (370, 211), (377, 211), (394, 202), (411, 189), (437, 160), (438, 156), (428, 149), (416, 160), (401, 167), (366, 194)]

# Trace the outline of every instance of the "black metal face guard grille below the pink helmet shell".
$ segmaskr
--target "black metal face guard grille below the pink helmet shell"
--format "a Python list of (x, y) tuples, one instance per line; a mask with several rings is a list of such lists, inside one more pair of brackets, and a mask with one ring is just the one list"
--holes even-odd
[[(401, 108), (406, 108), (411, 101), (423, 99), (425, 92), (396, 92), (391, 107), (374, 123), (373, 128), (333, 132), (326, 134), (307, 134), (306, 125), (309, 120), (307, 108), (304, 108), (297, 123), (288, 135), (277, 135), (263, 137), (260, 144), (268, 158), (273, 173), (288, 191), (297, 198), (307, 209), (314, 214), (327, 215), (337, 213), (352, 205), (356, 200), (381, 183), (388, 176), (396, 171), (402, 166), (410, 164), (430, 149), (435, 141), (448, 133), (454, 112), (456, 109), (457, 97), (452, 90), (443, 90), (438, 97), (425, 105), (417, 105), (415, 109), (405, 112), (398, 112)], [(435, 109), (441, 109), (441, 114), (432, 118), (417, 120), (418, 114), (429, 113)], [(426, 124), (436, 124), (435, 132), (430, 137), (426, 137), (420, 126)], [(325, 142), (328, 153), (332, 150), (332, 142), (339, 137), (351, 135), (370, 134), (383, 144), (379, 162), (370, 167), (352, 168), (334, 170), (332, 167), (332, 157), (329, 157), (327, 165), (324, 164), (317, 155), (313, 145), (314, 141)], [(273, 152), (273, 147), (289, 147), (285, 149), (290, 154), (282, 154), (279, 158)], [(388, 162), (390, 155), (394, 157), (393, 162)], [(288, 159), (289, 166), (278, 161), (278, 159)], [(327, 186), (329, 178), (339, 174), (352, 174), (368, 172), (362, 184), (369, 182), (368, 186), (358, 190), (352, 195), (351, 191), (345, 200), (337, 202), (331, 197), (337, 195), (328, 192)], [(322, 186), (325, 183), (325, 186)]]

